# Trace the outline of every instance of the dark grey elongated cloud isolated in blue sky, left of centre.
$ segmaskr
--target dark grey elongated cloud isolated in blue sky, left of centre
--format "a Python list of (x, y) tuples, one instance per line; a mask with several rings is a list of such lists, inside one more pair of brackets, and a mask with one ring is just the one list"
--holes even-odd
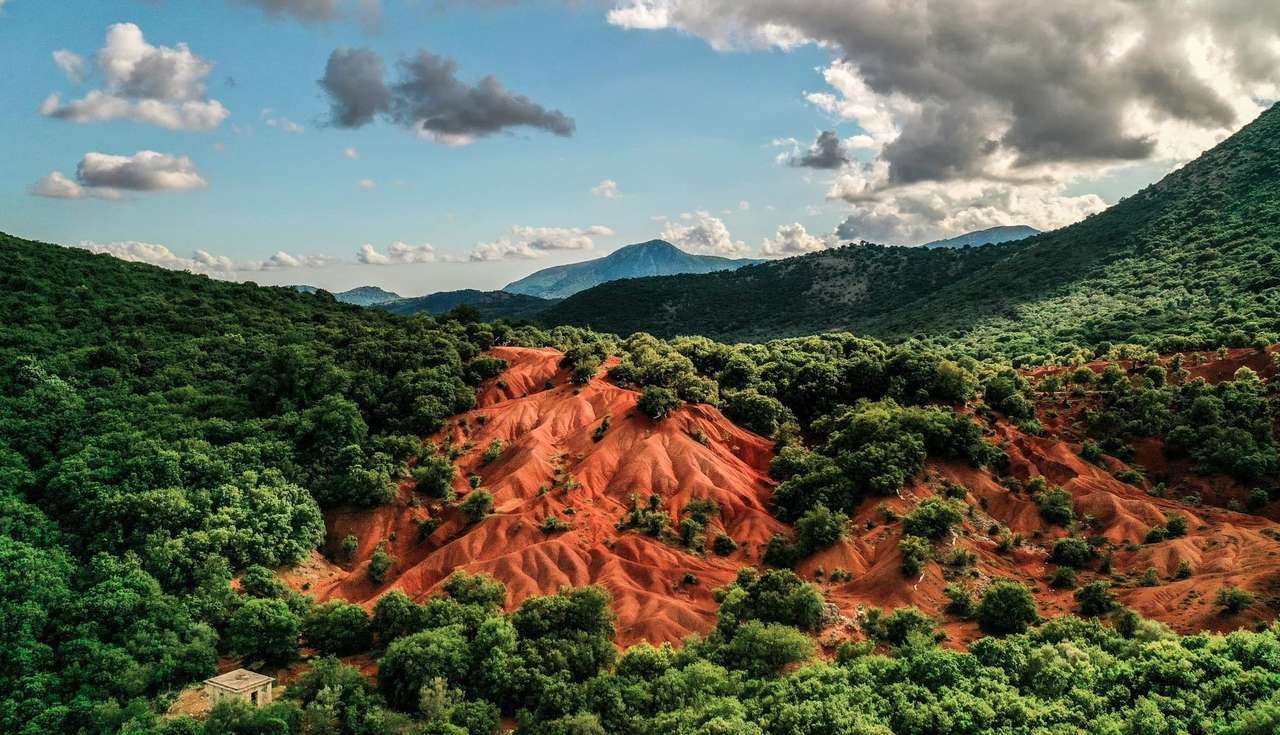
[(572, 118), (508, 91), (495, 77), (474, 85), (458, 79), (457, 63), (447, 56), (419, 51), (401, 59), (397, 73), (389, 85), (378, 52), (334, 50), (319, 82), (329, 97), (329, 123), (358, 128), (381, 117), (445, 145), (466, 145), (515, 128), (573, 134)]

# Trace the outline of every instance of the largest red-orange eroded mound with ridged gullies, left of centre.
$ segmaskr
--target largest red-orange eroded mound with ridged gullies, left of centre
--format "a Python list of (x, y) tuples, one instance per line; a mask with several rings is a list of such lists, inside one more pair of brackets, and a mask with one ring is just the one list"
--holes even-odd
[[(470, 525), (456, 508), (430, 508), (402, 488), (401, 498), (372, 511), (328, 519), (329, 539), (360, 539), (349, 572), (310, 575), (320, 598), (372, 602), (388, 589), (416, 599), (435, 593), (454, 570), (489, 572), (509, 592), (508, 606), (561, 586), (603, 584), (613, 595), (621, 643), (680, 640), (707, 630), (716, 613), (712, 590), (737, 569), (759, 561), (759, 548), (783, 525), (768, 510), (771, 442), (730, 423), (710, 406), (685, 406), (663, 421), (636, 411), (639, 394), (613, 385), (603, 373), (572, 385), (553, 350), (493, 351), (509, 368), (480, 391), (479, 408), (457, 417), (433, 440), (462, 447), (457, 460), (460, 498), (474, 492), (468, 478), (493, 493), (493, 513)], [(603, 421), (609, 426), (599, 440)], [(500, 442), (500, 456), (485, 452)], [(740, 544), (721, 557), (689, 549), (617, 524), (634, 498), (662, 498), (678, 528), (695, 498), (719, 508), (707, 538), (726, 533)], [(419, 521), (440, 525), (420, 540)], [(547, 531), (556, 516), (568, 530)], [(380, 542), (397, 557), (383, 585), (367, 579), (367, 560)], [(687, 575), (692, 575), (686, 579)], [(696, 579), (696, 581), (694, 581)]]

